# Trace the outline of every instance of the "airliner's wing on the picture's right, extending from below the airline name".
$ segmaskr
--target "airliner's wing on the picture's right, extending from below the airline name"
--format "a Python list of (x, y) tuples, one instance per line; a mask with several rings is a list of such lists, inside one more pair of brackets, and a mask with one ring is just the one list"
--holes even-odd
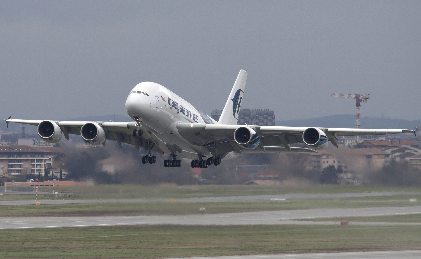
[[(244, 149), (234, 141), (234, 131), (237, 128), (245, 127), (245, 125), (228, 125), (228, 124), (200, 124), (200, 123), (178, 123), (177, 128), (181, 136), (189, 143), (194, 145), (208, 145), (210, 149), (214, 148), (213, 144), (220, 149), (220, 152), (237, 151), (242, 153), (260, 153), (256, 149)], [(302, 133), (307, 127), (278, 127), (278, 126), (248, 126), (252, 128), (260, 137), (259, 147), (265, 152), (266, 147), (284, 145), (288, 152), (306, 152), (306, 150), (294, 150), (289, 147), (290, 144), (303, 143)], [(357, 136), (357, 135), (384, 135), (394, 133), (413, 133), (412, 130), (405, 129), (365, 129), (365, 128), (319, 128), (325, 132), (328, 139), (338, 146), (336, 136)], [(268, 149), (268, 152), (274, 150)], [(312, 150), (312, 149), (309, 149)], [(280, 150), (279, 150), (280, 151)], [(278, 152), (279, 152), (278, 151)], [(218, 152), (218, 153), (220, 153)], [(309, 151), (308, 151), (309, 152)]]

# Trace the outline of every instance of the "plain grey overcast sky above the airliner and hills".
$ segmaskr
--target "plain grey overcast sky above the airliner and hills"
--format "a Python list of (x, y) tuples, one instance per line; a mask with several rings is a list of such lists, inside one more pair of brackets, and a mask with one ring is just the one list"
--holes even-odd
[(421, 118), (421, 1), (0, 2), (0, 114), (125, 114), (142, 81), (210, 114), (240, 69), (242, 108), (277, 120)]

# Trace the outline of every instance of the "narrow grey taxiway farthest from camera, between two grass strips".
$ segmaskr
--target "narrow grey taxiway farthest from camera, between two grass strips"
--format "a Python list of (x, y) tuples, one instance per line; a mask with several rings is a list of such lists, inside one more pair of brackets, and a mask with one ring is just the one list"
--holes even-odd
[[(35, 195), (35, 194), (34, 194)], [(421, 195), (421, 192), (408, 191), (383, 191), (373, 193), (341, 193), (341, 194), (280, 194), (280, 195), (254, 195), (254, 196), (221, 196), (181, 198), (177, 202), (215, 202), (215, 201), (253, 201), (270, 199), (334, 199), (334, 198), (358, 198), (393, 195)], [(58, 199), (58, 198), (57, 198)], [(172, 198), (141, 198), (141, 199), (86, 199), (86, 200), (39, 200), (42, 204), (69, 204), (69, 203), (105, 203), (105, 202), (170, 202)], [(282, 201), (281, 201), (282, 202)], [(0, 205), (29, 205), (35, 204), (35, 200), (25, 201), (0, 201)]]

